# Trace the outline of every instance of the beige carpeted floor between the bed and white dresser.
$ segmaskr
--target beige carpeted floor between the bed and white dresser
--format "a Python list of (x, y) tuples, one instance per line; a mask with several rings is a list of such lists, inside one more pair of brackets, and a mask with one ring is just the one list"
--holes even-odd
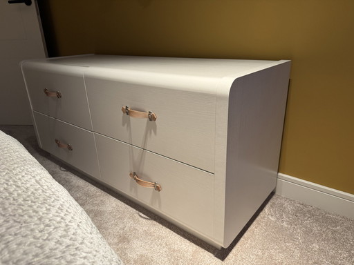
[(218, 251), (50, 157), (32, 126), (18, 139), (91, 217), (125, 264), (354, 264), (354, 220), (272, 195), (230, 248)]

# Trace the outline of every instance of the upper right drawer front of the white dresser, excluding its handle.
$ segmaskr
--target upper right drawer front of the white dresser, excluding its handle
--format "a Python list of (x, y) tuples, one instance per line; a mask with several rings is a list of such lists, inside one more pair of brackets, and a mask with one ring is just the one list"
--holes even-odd
[[(93, 130), (214, 173), (215, 95), (85, 76)], [(151, 111), (156, 121), (122, 112)]]

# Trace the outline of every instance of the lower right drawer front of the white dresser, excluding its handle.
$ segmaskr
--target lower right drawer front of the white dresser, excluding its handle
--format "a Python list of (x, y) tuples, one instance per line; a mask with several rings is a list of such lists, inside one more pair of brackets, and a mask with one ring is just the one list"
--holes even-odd
[[(214, 175), (147, 150), (95, 134), (102, 181), (205, 235), (214, 233)], [(157, 182), (137, 184), (130, 173)]]

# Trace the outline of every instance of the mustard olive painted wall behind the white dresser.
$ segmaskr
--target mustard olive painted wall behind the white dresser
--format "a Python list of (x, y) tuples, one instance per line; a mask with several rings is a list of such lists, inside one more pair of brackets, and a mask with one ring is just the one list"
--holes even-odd
[(353, 0), (39, 4), (52, 56), (291, 59), (279, 171), (354, 194)]

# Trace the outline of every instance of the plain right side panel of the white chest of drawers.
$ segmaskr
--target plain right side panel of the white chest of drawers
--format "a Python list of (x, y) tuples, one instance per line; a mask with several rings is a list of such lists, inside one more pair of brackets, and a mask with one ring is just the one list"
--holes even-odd
[(289, 73), (290, 62), (286, 61), (239, 77), (232, 84), (224, 246), (232, 242), (276, 186)]

